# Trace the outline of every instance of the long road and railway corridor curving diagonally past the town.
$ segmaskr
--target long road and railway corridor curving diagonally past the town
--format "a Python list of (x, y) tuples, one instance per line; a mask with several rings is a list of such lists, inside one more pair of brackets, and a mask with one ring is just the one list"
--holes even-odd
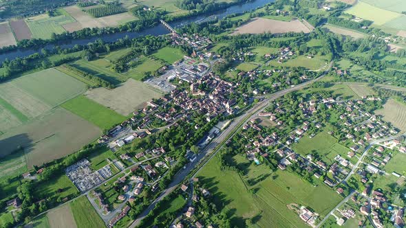
[[(192, 163), (188, 163), (186, 165), (186, 168), (184, 168), (183, 170), (180, 170), (180, 172), (175, 174), (172, 183), (169, 184), (167, 189), (164, 190), (160, 194), (160, 196), (158, 196), (158, 198), (156, 198), (153, 201), (153, 203), (151, 203), (151, 205), (149, 205), (149, 207), (147, 207), (147, 209), (145, 209), (133, 223), (131, 223), (130, 227), (131, 228), (137, 227), (140, 224), (141, 220), (144, 219), (149, 214), (149, 212), (151, 212), (151, 210), (155, 207), (156, 203), (158, 203), (159, 201), (162, 200), (162, 198), (164, 198), (165, 196), (167, 196), (168, 194), (173, 192), (173, 190), (175, 190), (175, 188), (178, 187), (178, 185), (184, 180), (184, 178), (189, 174), (189, 172), (191, 172), (204, 157), (210, 156), (210, 155), (212, 155), (211, 157), (213, 157), (213, 155), (215, 155), (215, 152), (219, 151), (219, 149), (221, 148), (220, 147), (220, 148), (217, 148), (217, 150), (215, 150), (217, 145), (220, 145), (220, 144), (224, 143), (226, 140), (228, 140), (229, 138), (233, 137), (233, 135), (237, 132), (237, 128), (242, 126), (245, 122), (248, 122), (249, 119), (251, 119), (251, 117), (254, 117), (255, 115), (257, 115), (257, 113), (263, 111), (266, 108), (266, 106), (269, 104), (269, 102), (276, 100), (277, 98), (281, 98), (282, 96), (284, 96), (288, 93), (291, 93), (293, 91), (298, 91), (300, 89), (303, 89), (303, 88), (307, 87), (309, 84), (312, 84), (314, 82), (321, 80), (321, 78), (323, 78), (330, 71), (332, 65), (333, 65), (333, 61), (330, 62), (330, 65), (328, 65), (328, 69), (326, 69), (324, 71), (324, 73), (321, 76), (319, 76), (318, 78), (314, 78), (313, 80), (309, 80), (307, 82), (297, 84), (294, 87), (289, 87), (289, 88), (283, 89), (281, 91), (278, 91), (276, 93), (273, 93), (273, 94), (267, 96), (266, 100), (255, 104), (255, 106), (253, 106), (251, 109), (246, 111), (246, 113), (244, 113), (243, 115), (240, 115), (239, 117), (234, 119), (234, 121), (230, 124), (230, 126), (228, 126), (228, 128), (226, 128), (224, 131), (222, 131), (222, 133), (220, 133), (220, 135), (218, 137), (213, 139), (213, 141), (211, 141), (211, 143), (208, 146), (206, 146), (206, 148), (204, 148), (202, 150), (202, 152), (199, 153), (199, 155), (197, 155), (195, 161), (193, 161)], [(210, 157), (210, 159), (211, 159), (211, 157)], [(210, 159), (207, 159), (206, 161), (204, 161), (204, 163), (202, 164), (200, 169), (202, 169), (204, 167), (204, 165), (207, 163), (207, 161), (209, 161)], [(197, 172), (199, 170), (197, 170)]]

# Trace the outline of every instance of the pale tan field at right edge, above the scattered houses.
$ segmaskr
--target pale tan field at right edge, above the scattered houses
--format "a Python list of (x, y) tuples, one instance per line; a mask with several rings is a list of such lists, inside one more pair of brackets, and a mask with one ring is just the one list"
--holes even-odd
[(406, 105), (396, 100), (389, 99), (383, 109), (375, 111), (376, 115), (382, 115), (385, 122), (390, 122), (401, 132), (406, 131)]

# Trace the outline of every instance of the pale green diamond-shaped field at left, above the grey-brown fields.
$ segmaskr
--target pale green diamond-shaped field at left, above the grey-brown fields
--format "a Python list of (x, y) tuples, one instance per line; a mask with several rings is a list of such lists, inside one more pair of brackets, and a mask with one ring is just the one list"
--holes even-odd
[(58, 106), (86, 91), (83, 82), (53, 68), (17, 78), (12, 84), (51, 106)]

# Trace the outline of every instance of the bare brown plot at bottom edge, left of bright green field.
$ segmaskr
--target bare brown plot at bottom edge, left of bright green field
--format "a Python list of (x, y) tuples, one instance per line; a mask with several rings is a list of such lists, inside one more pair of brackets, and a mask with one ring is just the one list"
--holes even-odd
[[(87, 212), (82, 213), (86, 214)], [(70, 208), (69, 204), (52, 209), (50, 212), (48, 212), (47, 217), (51, 228), (78, 227), (76, 226), (72, 209)]]

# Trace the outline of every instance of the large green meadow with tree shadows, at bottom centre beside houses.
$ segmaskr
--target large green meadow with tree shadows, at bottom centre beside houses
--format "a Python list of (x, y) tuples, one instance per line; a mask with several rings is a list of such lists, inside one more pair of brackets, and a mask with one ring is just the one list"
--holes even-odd
[[(286, 205), (307, 205), (325, 216), (341, 201), (341, 197), (325, 185), (313, 187), (295, 174), (283, 171), (272, 174), (266, 165), (254, 165), (240, 155), (228, 160), (242, 169), (244, 176), (220, 170), (220, 160), (214, 157), (198, 173), (198, 177), (209, 186), (215, 203), (224, 205), (224, 212), (237, 227), (245, 227), (244, 219), (253, 217), (258, 227), (306, 227)], [(320, 201), (319, 197), (325, 200)]]

